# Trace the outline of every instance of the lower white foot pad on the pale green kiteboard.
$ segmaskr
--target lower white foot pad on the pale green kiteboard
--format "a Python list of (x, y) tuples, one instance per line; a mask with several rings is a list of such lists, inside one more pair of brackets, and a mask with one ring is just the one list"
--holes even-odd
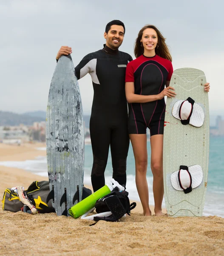
[(178, 174), (180, 171), (180, 180), (181, 180), (181, 186), (184, 189), (187, 189), (190, 186), (190, 175), (192, 178), (192, 189), (195, 189), (198, 187), (203, 179), (203, 172), (202, 168), (199, 165), (193, 165), (188, 167), (188, 171), (190, 172), (190, 175), (188, 174), (187, 170), (178, 170), (176, 172), (173, 172), (170, 176), (171, 184), (174, 189), (183, 191), (183, 189), (180, 186)]

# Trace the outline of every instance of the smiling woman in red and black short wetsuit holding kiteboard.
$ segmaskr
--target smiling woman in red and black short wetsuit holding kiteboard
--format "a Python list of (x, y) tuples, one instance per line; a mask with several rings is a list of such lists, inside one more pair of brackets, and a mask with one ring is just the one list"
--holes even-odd
[[(147, 137), (150, 129), (151, 169), (153, 173), (153, 195), (155, 215), (162, 213), (163, 188), (163, 130), (164, 96), (175, 97), (170, 79), (173, 73), (172, 58), (165, 38), (152, 25), (144, 26), (138, 34), (134, 47), (136, 59), (128, 63), (125, 93), (129, 105), (128, 133), (132, 143), (136, 164), (136, 187), (145, 216), (151, 215), (148, 198)], [(166, 87), (165, 87), (166, 86)], [(204, 84), (210, 89), (209, 83)], [(165, 87), (165, 88), (164, 88)]]

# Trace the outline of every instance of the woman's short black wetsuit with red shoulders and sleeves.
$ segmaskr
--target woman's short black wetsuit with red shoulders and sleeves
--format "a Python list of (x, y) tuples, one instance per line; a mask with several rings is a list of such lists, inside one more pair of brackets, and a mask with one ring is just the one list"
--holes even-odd
[[(131, 61), (126, 69), (125, 82), (134, 82), (135, 94), (156, 95), (164, 90), (166, 81), (170, 81), (173, 73), (172, 63), (155, 55), (139, 56)], [(150, 135), (163, 134), (165, 101), (164, 98), (147, 103), (129, 104), (128, 133)]]

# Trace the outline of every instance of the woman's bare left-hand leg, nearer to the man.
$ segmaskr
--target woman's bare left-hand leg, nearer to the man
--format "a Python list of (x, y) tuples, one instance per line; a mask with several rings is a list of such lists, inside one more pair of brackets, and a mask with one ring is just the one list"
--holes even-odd
[(147, 172), (147, 137), (146, 134), (129, 134), (135, 156), (136, 187), (143, 207), (143, 214), (150, 216)]

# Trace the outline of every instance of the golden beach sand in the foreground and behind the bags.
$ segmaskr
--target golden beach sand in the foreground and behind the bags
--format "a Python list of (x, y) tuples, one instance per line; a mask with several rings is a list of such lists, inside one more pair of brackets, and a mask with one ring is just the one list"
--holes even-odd
[[(45, 156), (44, 144), (0, 144), (0, 161)], [(0, 194), (6, 188), (46, 180), (17, 168), (0, 166)], [(0, 255), (224, 255), (224, 218), (144, 217), (137, 207), (119, 222), (93, 221), (3, 211), (0, 204)]]

